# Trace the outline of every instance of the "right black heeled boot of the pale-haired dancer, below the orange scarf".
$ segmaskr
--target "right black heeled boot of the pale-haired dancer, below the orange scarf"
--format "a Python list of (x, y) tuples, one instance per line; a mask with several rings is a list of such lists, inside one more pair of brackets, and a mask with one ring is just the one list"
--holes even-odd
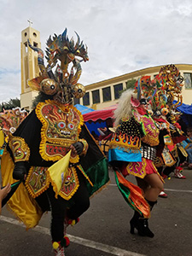
[[(148, 200), (146, 201), (148, 202), (150, 211), (152, 211), (157, 201), (148, 201)], [(138, 218), (137, 231), (139, 236), (154, 237), (154, 233), (148, 228), (148, 218), (143, 218), (143, 217)]]

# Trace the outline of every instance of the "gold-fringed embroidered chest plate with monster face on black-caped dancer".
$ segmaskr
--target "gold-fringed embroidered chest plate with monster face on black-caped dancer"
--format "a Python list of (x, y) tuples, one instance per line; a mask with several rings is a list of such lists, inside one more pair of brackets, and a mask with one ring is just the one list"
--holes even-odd
[(77, 108), (54, 101), (39, 102), (36, 114), (43, 125), (39, 150), (42, 158), (60, 160), (78, 141), (83, 116)]

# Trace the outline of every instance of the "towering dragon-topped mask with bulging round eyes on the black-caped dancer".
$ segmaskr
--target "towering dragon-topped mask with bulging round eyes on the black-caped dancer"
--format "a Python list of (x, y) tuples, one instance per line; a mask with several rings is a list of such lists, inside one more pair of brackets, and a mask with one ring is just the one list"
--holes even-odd
[[(76, 44), (73, 38), (69, 40), (67, 37), (67, 29), (61, 35), (55, 35), (53, 40), (49, 37), (46, 49), (47, 67), (44, 66), (43, 50), (32, 46), (28, 41), (29, 46), (38, 52), (38, 66), (41, 71), (41, 76), (28, 81), (32, 90), (40, 90), (46, 95), (54, 96), (55, 100), (62, 104), (72, 103), (73, 97), (84, 96), (84, 86), (77, 82), (82, 73), (80, 62), (89, 61), (89, 57), (87, 47), (84, 46), (83, 41), (80, 42), (78, 34), (77, 36)], [(57, 63), (58, 61), (61, 62), (60, 65)], [(68, 65), (70, 63), (73, 66), (69, 73)], [(56, 64), (57, 67), (53, 73), (52, 68)], [(75, 73), (74, 70), (76, 70)]]

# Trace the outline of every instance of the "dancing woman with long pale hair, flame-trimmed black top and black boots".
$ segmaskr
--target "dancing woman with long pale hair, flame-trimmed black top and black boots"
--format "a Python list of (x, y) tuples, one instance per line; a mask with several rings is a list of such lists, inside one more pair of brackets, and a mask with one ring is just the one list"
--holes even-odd
[[(108, 153), (109, 163), (118, 168), (124, 177), (129, 174), (137, 178), (137, 185), (143, 190), (150, 211), (163, 189), (163, 180), (154, 166), (156, 146), (160, 131), (147, 111), (148, 101), (141, 98), (140, 79), (137, 82), (137, 96), (126, 90), (114, 111), (116, 131), (113, 134)], [(148, 215), (137, 207), (131, 218), (131, 234), (137, 229), (138, 235), (154, 237), (148, 228)]]

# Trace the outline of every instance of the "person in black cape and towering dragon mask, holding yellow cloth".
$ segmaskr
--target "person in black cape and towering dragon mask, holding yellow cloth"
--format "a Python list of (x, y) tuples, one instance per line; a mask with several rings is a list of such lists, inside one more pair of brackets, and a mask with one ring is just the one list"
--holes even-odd
[[(67, 29), (53, 40), (49, 38), (47, 67), (42, 49), (28, 42), (38, 52), (41, 71), (28, 84), (39, 95), (32, 113), (9, 137), (2, 164), (3, 184), (22, 181), (9, 207), (27, 229), (37, 225), (42, 214), (50, 210), (52, 244), (55, 255), (60, 256), (65, 255), (64, 247), (69, 242), (67, 225), (78, 222), (90, 207), (90, 196), (108, 183), (107, 160), (84, 125), (82, 114), (73, 107), (73, 97), (84, 96), (84, 86), (77, 83), (79, 59), (89, 60), (77, 36), (76, 44), (73, 38), (68, 39)], [(52, 68), (58, 61), (54, 73)]]

